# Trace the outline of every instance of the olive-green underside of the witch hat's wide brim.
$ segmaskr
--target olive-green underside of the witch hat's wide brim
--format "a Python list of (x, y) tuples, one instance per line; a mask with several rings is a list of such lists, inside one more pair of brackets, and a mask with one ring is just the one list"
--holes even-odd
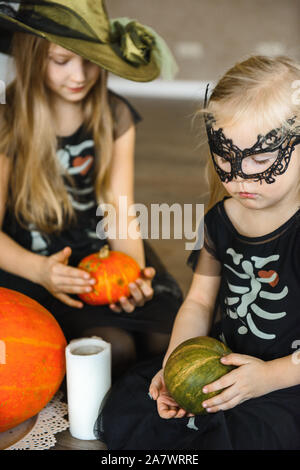
[[(95, 63), (99, 67), (118, 75), (127, 80), (136, 82), (149, 82), (157, 78), (160, 74), (160, 69), (156, 64), (153, 54), (150, 57), (149, 63), (135, 66), (120, 57), (109, 44), (101, 44), (84, 39), (74, 39), (70, 37), (58, 36), (50, 33), (44, 33), (37, 29), (31, 28), (24, 23), (15, 20), (14, 18), (7, 18), (7, 16), (0, 13), (0, 21), (5, 23), (4, 29), (7, 28), (7, 35), (12, 35), (15, 31), (34, 34), (42, 37), (49, 42), (57, 44), (74, 54)], [(1, 31), (3, 37), (3, 31)], [(4, 35), (5, 36), (5, 35)], [(7, 40), (7, 44), (10, 40)]]

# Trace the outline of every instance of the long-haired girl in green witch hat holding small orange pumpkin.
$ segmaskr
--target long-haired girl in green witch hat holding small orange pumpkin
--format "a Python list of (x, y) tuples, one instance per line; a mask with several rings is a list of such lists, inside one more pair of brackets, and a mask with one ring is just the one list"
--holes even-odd
[(140, 116), (107, 89), (107, 73), (150, 81), (175, 63), (155, 31), (110, 21), (101, 0), (1, 2), (0, 28), (16, 70), (0, 107), (0, 285), (49, 308), (68, 339), (111, 342), (117, 375), (164, 350), (181, 293), (149, 246), (127, 237), (108, 242), (142, 268), (131, 297), (92, 307), (76, 295), (93, 289), (79, 260), (107, 243), (98, 204), (119, 216), (121, 196), (134, 203)]

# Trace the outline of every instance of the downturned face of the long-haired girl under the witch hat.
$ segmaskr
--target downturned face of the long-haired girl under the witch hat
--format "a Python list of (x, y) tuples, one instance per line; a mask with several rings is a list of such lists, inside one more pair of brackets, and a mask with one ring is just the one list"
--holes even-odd
[(55, 44), (50, 44), (46, 85), (64, 101), (81, 101), (96, 83), (101, 68)]

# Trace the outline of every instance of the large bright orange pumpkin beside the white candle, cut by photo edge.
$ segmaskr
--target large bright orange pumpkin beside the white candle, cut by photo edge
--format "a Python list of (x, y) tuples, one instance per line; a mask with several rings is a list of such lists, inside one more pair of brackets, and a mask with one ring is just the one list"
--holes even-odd
[(66, 340), (35, 300), (0, 287), (0, 432), (36, 415), (65, 375)]

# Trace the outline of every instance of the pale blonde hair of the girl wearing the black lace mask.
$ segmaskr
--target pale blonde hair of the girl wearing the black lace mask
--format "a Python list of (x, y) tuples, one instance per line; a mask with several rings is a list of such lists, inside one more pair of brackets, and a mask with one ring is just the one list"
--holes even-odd
[[(286, 120), (296, 116), (294, 127), (300, 125), (300, 103), (295, 97), (296, 81), (300, 80), (300, 65), (288, 57), (251, 56), (237, 63), (220, 79), (209, 104), (198, 114), (212, 113), (219, 128), (249, 122), (257, 133), (286, 127)], [(298, 82), (299, 84), (299, 82)], [(228, 195), (212, 159), (206, 165), (209, 201), (206, 212)], [(300, 184), (300, 178), (299, 178)]]

